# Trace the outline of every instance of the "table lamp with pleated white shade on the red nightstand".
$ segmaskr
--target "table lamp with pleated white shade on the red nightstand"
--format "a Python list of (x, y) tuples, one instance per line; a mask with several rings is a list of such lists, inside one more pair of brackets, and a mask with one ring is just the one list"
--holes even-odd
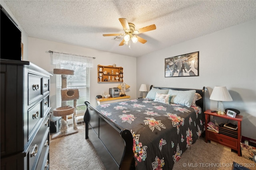
[(223, 101), (233, 101), (226, 86), (215, 86), (212, 90), (210, 100), (218, 101), (217, 113), (222, 115), (225, 114)]

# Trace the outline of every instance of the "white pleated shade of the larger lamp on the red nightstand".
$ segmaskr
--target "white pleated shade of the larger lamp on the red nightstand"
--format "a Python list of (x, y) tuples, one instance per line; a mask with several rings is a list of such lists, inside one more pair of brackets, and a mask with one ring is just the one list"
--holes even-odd
[(210, 100), (233, 101), (226, 86), (215, 86), (212, 90)]

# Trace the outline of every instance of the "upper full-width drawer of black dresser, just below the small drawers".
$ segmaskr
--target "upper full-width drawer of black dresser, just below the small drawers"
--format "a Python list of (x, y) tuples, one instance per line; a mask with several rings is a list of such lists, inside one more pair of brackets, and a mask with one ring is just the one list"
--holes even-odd
[[(44, 145), (46, 144), (46, 140), (48, 140), (47, 147), (49, 147), (49, 139), (46, 137), (49, 134), (49, 118), (46, 116), (42, 121), (40, 129), (34, 136), (34, 139), (31, 142), (31, 145), (28, 150), (28, 169), (32, 170), (36, 167), (36, 163), (38, 162), (38, 158), (42, 151), (44, 150)], [(46, 138), (45, 138), (46, 137)], [(45, 140), (42, 140), (45, 139)], [(47, 149), (46, 147), (46, 149)], [(45, 150), (44, 150), (45, 151)]]

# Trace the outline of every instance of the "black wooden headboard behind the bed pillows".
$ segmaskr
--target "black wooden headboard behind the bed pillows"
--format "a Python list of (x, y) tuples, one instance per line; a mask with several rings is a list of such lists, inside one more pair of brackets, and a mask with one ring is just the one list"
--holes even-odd
[[(153, 85), (150, 86), (150, 90), (152, 89)], [(172, 89), (172, 90), (196, 90), (196, 93), (200, 94), (202, 96), (202, 99), (199, 99), (196, 101), (196, 105), (200, 106), (202, 108), (202, 111), (205, 111), (205, 104), (204, 104), (204, 91), (205, 91), (205, 87), (203, 87), (202, 89), (191, 89), (191, 88), (169, 88), (169, 87), (154, 87), (154, 88), (158, 88), (158, 89)]]

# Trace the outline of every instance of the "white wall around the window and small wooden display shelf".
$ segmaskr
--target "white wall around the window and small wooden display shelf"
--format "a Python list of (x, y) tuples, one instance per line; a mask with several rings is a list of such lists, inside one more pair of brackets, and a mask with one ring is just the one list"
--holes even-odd
[[(102, 95), (102, 92), (109, 93), (109, 88), (117, 87), (120, 83), (98, 83), (97, 81), (97, 65), (113, 65), (121, 66), (124, 68), (124, 82), (130, 85), (130, 88), (126, 90), (126, 95), (131, 96), (131, 99), (136, 98), (136, 58), (118, 55), (113, 53), (106, 53), (94, 49), (88, 49), (84, 47), (78, 47), (73, 45), (67, 45), (63, 43), (57, 43), (53, 41), (47, 41), (37, 38), (28, 38), (28, 61), (36, 64), (44, 70), (53, 74), (53, 69), (56, 68), (55, 64), (52, 64), (52, 53), (48, 51), (56, 51), (60, 53), (68, 53), (74, 55), (82, 55), (88, 57), (96, 57), (93, 60), (94, 67), (90, 69), (90, 103), (93, 106), (97, 106), (96, 95)], [(52, 109), (56, 108), (56, 75), (50, 78), (50, 105)]]

